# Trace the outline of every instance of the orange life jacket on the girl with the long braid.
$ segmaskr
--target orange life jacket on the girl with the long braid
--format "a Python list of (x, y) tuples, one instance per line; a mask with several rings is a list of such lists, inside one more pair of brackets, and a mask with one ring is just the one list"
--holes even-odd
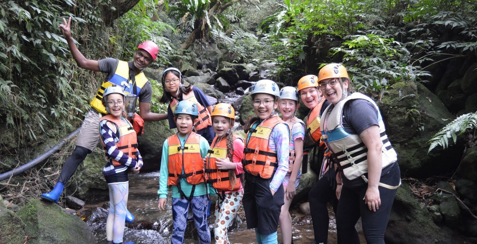
[[(214, 141), (212, 141), (210, 149), (207, 152), (207, 183), (212, 183), (212, 186), (217, 190), (237, 191), (240, 189), (240, 175), (237, 175), (235, 184), (232, 185), (232, 183), (230, 182), (230, 178), (228, 177), (228, 170), (219, 170), (217, 168), (217, 164), (215, 163), (217, 159), (225, 159), (228, 157), (227, 138), (224, 136), (219, 142), (217, 142), (217, 139), (218, 136), (214, 138)], [(233, 137), (233, 140), (235, 139), (237, 139), (236, 136)]]

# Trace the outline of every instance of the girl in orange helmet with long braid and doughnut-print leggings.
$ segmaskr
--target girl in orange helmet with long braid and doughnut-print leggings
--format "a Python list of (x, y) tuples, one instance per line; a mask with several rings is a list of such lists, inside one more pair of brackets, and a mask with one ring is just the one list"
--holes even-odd
[(205, 160), (208, 182), (217, 191), (214, 234), (216, 244), (230, 244), (227, 229), (242, 206), (243, 140), (234, 135), (235, 110), (227, 103), (212, 109), (216, 137)]

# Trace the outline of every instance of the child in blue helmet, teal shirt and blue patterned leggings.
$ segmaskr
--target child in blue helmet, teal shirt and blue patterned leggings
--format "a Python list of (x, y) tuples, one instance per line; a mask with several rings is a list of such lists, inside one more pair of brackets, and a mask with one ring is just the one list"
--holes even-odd
[(192, 205), (194, 224), (200, 244), (210, 243), (207, 225), (207, 186), (204, 160), (209, 144), (194, 132), (198, 109), (194, 102), (180, 101), (174, 110), (177, 133), (169, 136), (162, 147), (159, 176), (159, 210), (165, 210), (168, 188), (172, 188), (172, 244), (184, 243), (187, 212)]

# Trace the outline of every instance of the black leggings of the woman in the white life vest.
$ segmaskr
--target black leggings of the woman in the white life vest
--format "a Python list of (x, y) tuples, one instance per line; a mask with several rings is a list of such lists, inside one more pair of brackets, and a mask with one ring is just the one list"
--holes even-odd
[[(395, 186), (399, 184), (401, 173), (397, 163), (385, 172), (380, 179), (381, 183)], [(359, 237), (354, 225), (361, 217), (364, 237), (368, 244), (384, 244), (384, 232), (391, 214), (394, 196), (397, 190), (391, 190), (379, 186), (379, 197), (381, 206), (376, 212), (369, 210), (364, 204), (364, 195), (368, 186), (363, 185), (354, 188), (346, 187), (343, 184), (340, 202), (338, 203), (338, 213), (336, 217), (336, 227), (341, 234), (343, 243), (359, 244)]]

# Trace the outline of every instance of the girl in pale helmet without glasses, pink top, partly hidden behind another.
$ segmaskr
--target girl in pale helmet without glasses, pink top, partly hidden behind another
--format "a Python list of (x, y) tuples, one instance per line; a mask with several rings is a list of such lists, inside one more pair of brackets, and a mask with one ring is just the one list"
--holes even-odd
[(288, 173), (283, 178), (283, 190), (285, 204), (281, 206), (280, 229), (283, 244), (291, 244), (291, 216), (289, 211), (291, 200), (300, 183), (301, 162), (303, 159), (303, 139), (305, 138), (305, 124), (295, 116), (300, 107), (298, 91), (291, 86), (285, 86), (280, 90), (279, 109), (281, 118), (290, 128), (290, 161)]

